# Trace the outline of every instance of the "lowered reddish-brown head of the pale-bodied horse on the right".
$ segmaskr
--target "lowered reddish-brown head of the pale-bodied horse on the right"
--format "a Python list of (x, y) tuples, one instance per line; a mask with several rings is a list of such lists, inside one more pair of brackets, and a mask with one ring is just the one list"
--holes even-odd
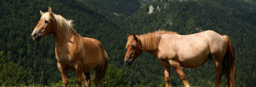
[(125, 55), (125, 64), (131, 66), (134, 60), (141, 55), (141, 42), (140, 39), (133, 33), (133, 36), (127, 34), (128, 41), (126, 44), (127, 52)]

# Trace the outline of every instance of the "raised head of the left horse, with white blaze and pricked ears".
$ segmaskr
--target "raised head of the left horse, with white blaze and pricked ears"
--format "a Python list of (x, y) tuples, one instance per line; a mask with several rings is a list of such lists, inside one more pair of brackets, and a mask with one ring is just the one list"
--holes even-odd
[(37, 26), (35, 26), (31, 37), (34, 41), (41, 41), (42, 38), (56, 31), (55, 26), (55, 16), (52, 13), (52, 9), (49, 7), (48, 12), (41, 12), (41, 19), (38, 21)]

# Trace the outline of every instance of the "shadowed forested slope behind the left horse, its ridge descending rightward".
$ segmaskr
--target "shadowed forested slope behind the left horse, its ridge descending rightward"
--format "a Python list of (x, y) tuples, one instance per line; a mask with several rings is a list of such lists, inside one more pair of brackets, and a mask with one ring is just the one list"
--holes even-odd
[[(35, 83), (39, 83), (42, 71), (44, 71), (41, 82), (43, 84), (61, 80), (61, 74), (56, 66), (55, 41), (52, 35), (42, 39), (41, 42), (33, 41), (30, 36), (40, 20), (39, 10), (48, 12), (48, 6), (51, 6), (55, 14), (74, 20), (74, 30), (81, 36), (99, 39), (111, 57), (110, 63), (123, 63), (120, 60), (115, 62), (114, 59), (122, 57), (125, 51), (123, 48), (125, 45), (119, 42), (125, 43), (126, 35), (122, 34), (124, 30), (87, 4), (71, 0), (3, 0), (0, 1), (0, 6), (0, 50), (4, 52), (6, 59), (28, 70), (30, 76), (24, 80), (29, 80), (30, 82), (27, 82), (29, 84), (32, 79)], [(122, 37), (124, 38), (120, 39)]]

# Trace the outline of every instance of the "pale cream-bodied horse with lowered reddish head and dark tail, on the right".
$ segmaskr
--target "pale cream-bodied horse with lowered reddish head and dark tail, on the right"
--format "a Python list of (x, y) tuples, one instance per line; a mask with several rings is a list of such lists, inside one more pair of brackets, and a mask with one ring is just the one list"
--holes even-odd
[(208, 59), (214, 61), (217, 77), (215, 86), (219, 86), (223, 74), (229, 86), (236, 86), (234, 50), (226, 35), (211, 30), (190, 35), (157, 31), (143, 35), (127, 34), (127, 37), (126, 65), (131, 66), (142, 51), (151, 53), (163, 68), (166, 87), (170, 86), (170, 67), (174, 68), (184, 86), (188, 87), (190, 85), (182, 67), (196, 68)]

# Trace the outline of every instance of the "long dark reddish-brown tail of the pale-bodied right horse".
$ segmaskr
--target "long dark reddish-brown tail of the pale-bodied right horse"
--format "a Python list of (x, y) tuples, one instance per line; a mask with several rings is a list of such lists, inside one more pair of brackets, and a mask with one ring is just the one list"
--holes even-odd
[(226, 54), (223, 59), (223, 74), (227, 78), (227, 82), (230, 87), (236, 86), (235, 79), (236, 79), (236, 63), (235, 63), (235, 56), (234, 56), (234, 49), (233, 45), (230, 42), (229, 37), (223, 35), (223, 37), (227, 41), (227, 50)]

